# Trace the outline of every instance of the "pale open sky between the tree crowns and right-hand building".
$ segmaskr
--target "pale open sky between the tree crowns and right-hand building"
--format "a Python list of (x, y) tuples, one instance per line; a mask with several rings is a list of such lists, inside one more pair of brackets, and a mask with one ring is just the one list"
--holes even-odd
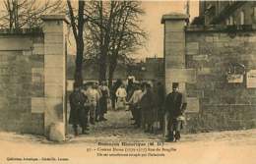
[[(163, 57), (163, 25), (160, 24), (162, 15), (171, 12), (185, 13), (186, 1), (143, 1), (142, 7), (146, 14), (142, 17), (142, 27), (149, 33), (149, 41), (135, 58)], [(198, 1), (190, 1), (190, 20), (198, 16)]]

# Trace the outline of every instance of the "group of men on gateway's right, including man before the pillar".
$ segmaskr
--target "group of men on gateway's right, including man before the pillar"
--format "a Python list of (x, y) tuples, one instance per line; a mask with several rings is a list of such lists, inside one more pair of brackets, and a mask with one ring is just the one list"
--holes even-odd
[(166, 96), (161, 82), (131, 83), (133, 89), (128, 90), (127, 102), (135, 120), (135, 127), (144, 129), (145, 133), (156, 134), (158, 130), (163, 132), (166, 125), (166, 141), (178, 141), (187, 106), (185, 94), (178, 90), (179, 83), (173, 82), (172, 91)]

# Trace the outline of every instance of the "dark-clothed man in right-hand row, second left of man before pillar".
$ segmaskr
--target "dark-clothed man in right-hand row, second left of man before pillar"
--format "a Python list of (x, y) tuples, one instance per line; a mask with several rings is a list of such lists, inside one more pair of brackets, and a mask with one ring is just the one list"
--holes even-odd
[(143, 128), (146, 133), (154, 133), (154, 122), (156, 121), (156, 100), (149, 83), (145, 84), (145, 93), (141, 99)]

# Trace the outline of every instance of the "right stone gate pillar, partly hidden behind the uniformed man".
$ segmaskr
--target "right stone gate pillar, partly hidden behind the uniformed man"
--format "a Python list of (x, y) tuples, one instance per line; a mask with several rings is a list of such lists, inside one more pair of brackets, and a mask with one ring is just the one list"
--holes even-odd
[[(164, 79), (166, 94), (172, 91), (172, 82), (179, 82), (181, 91), (185, 91), (186, 65), (185, 65), (185, 25), (188, 16), (179, 13), (163, 15), (161, 24), (164, 25), (163, 56)], [(166, 125), (167, 116), (164, 117), (163, 137), (168, 134)]]

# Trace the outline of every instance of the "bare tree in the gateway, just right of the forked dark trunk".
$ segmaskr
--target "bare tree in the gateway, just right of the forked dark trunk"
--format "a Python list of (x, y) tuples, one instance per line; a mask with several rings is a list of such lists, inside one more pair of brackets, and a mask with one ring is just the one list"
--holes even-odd
[(90, 30), (87, 45), (92, 47), (89, 50), (96, 49), (96, 54), (93, 52), (93, 55), (95, 55), (99, 66), (99, 82), (106, 80), (107, 54), (111, 39), (110, 31), (117, 4), (117, 1), (92, 1), (86, 10)]

